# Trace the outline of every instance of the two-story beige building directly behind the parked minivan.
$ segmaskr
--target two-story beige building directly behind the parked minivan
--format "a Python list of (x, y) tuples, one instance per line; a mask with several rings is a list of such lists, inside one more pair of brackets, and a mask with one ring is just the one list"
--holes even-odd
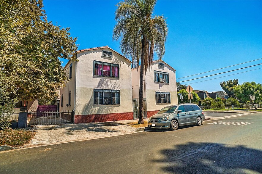
[[(140, 66), (132, 69), (132, 96), (139, 98)], [(144, 76), (143, 96), (146, 99), (147, 117), (165, 106), (178, 104), (176, 70), (162, 60), (152, 62)]]

